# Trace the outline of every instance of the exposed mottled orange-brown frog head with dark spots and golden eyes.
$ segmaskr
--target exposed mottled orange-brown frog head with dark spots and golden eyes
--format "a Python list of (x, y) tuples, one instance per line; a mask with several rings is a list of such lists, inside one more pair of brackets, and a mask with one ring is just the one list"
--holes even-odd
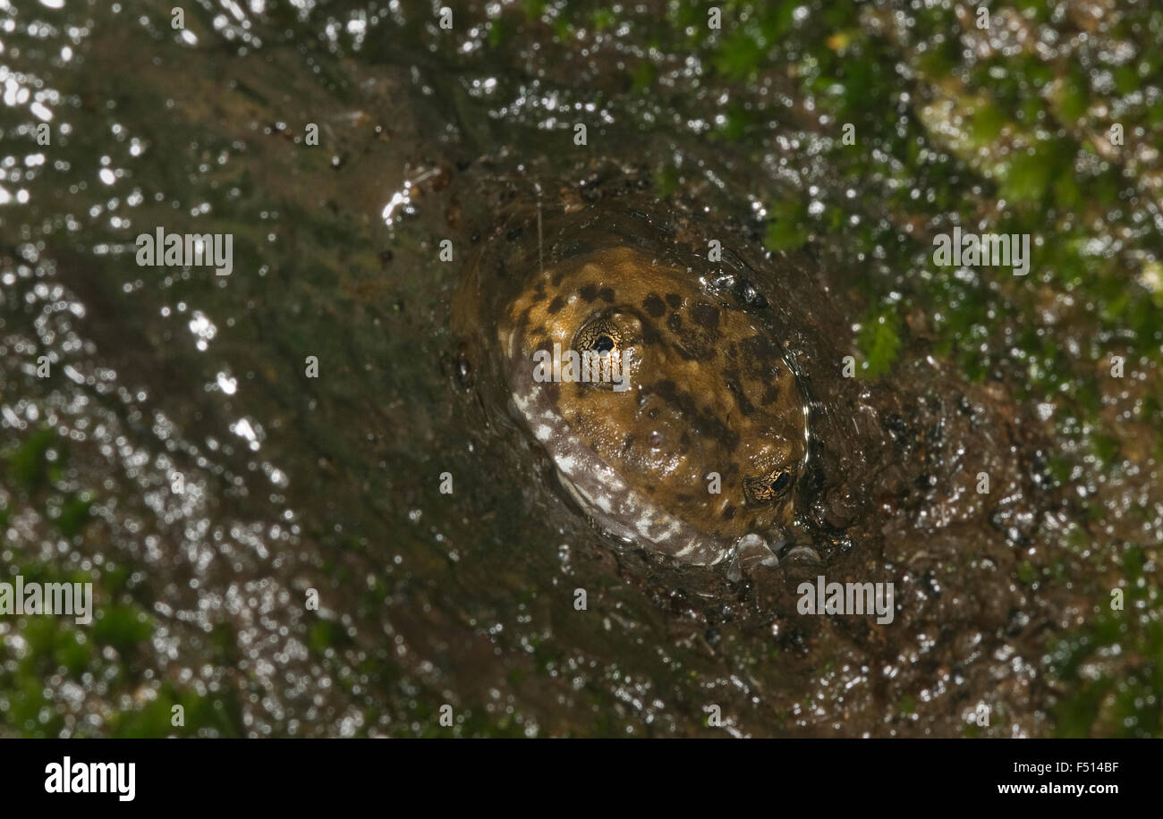
[[(614, 533), (713, 563), (739, 537), (790, 523), (806, 453), (804, 396), (779, 347), (697, 274), (630, 247), (566, 258), (523, 280), (497, 340), (530, 430)], [(622, 361), (628, 351), (629, 389), (536, 382), (534, 353), (555, 343)], [(613, 473), (605, 483), (599, 462)], [(712, 473), (720, 494), (708, 491)]]

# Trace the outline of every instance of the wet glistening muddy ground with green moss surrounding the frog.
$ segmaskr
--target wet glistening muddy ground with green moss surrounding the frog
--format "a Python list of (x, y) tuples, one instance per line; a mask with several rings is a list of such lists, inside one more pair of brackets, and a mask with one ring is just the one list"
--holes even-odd
[[(52, 5), (2, 10), (0, 566), (95, 620), (0, 616), (0, 733), (1161, 733), (1163, 13)], [(818, 562), (611, 543), (466, 381), (495, 197), (622, 172), (794, 329)], [(934, 265), (958, 223), (1030, 273)]]

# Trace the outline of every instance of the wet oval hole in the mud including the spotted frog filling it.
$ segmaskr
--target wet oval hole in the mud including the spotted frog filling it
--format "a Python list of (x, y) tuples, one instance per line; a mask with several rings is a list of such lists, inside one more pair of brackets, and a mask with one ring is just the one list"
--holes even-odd
[[(776, 329), (647, 197), (502, 210), (454, 326), (564, 496), (605, 536), (683, 565), (741, 544), (773, 554), (809, 459), (808, 401)], [(577, 378), (569, 357), (612, 376)]]

